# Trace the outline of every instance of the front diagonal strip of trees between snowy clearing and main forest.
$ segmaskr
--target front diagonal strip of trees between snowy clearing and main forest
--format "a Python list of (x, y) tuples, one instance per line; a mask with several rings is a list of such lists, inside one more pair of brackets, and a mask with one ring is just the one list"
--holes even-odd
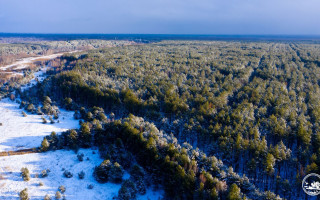
[[(82, 116), (88, 116), (84, 111), (82, 113)], [(188, 143), (180, 146), (175, 137), (160, 132), (142, 118), (130, 115), (122, 121), (109, 123), (97, 116), (99, 114), (95, 114), (91, 122), (83, 122), (78, 131), (70, 130), (59, 136), (52, 133), (45, 137), (40, 149), (76, 150), (98, 146), (106, 159), (95, 170), (94, 176), (99, 182), (108, 177), (104, 174), (104, 166), (110, 166), (112, 170), (112, 165), (107, 164), (111, 163), (109, 160), (119, 162), (119, 166), (131, 169), (131, 172), (137, 168), (136, 161), (151, 175), (152, 184), (164, 187), (166, 197), (170, 199), (246, 199), (245, 194), (254, 199), (277, 199), (271, 192), (260, 193), (247, 177), (240, 177), (232, 168), (227, 169), (214, 156), (206, 157)], [(121, 176), (117, 180), (121, 182)]]

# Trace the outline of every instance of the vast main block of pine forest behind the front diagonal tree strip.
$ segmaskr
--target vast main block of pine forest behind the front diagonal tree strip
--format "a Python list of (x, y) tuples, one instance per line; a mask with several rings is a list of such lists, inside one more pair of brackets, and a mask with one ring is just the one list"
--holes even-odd
[(295, 199), (320, 166), (319, 52), (318, 44), (205, 41), (93, 50), (63, 58), (38, 91), (141, 116)]

